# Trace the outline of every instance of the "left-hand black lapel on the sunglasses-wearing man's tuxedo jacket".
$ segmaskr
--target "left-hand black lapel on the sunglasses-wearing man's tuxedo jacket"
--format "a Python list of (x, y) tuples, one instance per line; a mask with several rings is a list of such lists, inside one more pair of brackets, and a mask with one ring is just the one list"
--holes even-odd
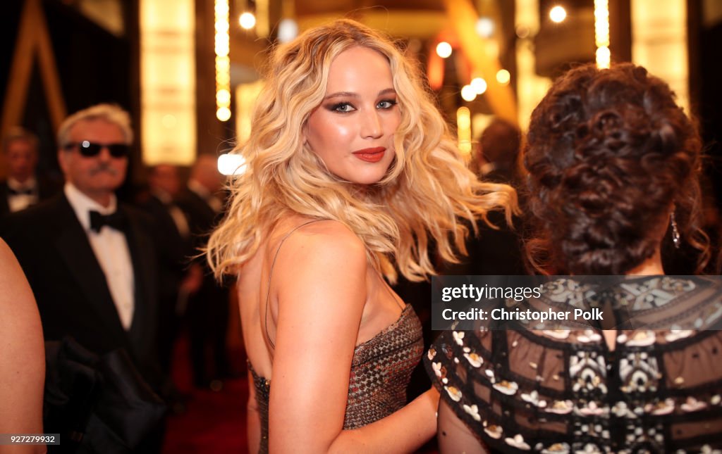
[(58, 233), (55, 245), (61, 257), (90, 303), (90, 309), (97, 314), (97, 320), (107, 326), (114, 335), (124, 337), (125, 330), (110, 295), (103, 269), (92, 251), (87, 234), (64, 195), (59, 208), (61, 222), (58, 222), (58, 225), (63, 227)]

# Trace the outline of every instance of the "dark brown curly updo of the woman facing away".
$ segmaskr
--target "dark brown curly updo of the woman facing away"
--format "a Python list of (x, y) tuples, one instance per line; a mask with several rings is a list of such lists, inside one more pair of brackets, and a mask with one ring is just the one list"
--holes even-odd
[(531, 264), (551, 274), (623, 275), (653, 256), (674, 206), (701, 270), (709, 246), (700, 228), (700, 154), (695, 123), (645, 68), (568, 71), (529, 125)]

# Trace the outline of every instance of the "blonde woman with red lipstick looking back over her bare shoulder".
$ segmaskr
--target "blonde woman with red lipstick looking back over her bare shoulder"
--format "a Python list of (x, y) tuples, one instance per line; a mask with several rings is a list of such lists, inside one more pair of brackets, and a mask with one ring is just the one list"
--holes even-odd
[(238, 153), (247, 171), (208, 247), (238, 276), (251, 451), (418, 448), (438, 393), (406, 404), (421, 326), (386, 280), (432, 274), (432, 240), (455, 259), (457, 218), (515, 193), (476, 181), (417, 68), (351, 20), (277, 48)]

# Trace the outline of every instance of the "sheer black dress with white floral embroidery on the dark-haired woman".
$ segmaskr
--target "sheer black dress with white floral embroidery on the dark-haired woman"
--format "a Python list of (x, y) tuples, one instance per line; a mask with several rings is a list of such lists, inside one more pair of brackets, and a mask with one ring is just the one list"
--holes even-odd
[[(722, 318), (722, 298), (710, 301), (722, 284), (653, 277), (599, 290), (586, 282), (558, 280), (552, 295), (567, 307), (604, 308), (605, 316), (611, 298), (622, 317), (612, 326), (627, 326), (639, 308), (647, 319), (620, 329), (613, 350), (593, 325), (445, 332), (427, 370), (459, 419), (492, 451), (722, 454), (722, 331), (692, 329)], [(701, 305), (685, 293), (705, 285), (720, 290), (699, 293)], [(659, 311), (679, 307), (682, 315), (654, 324)]]

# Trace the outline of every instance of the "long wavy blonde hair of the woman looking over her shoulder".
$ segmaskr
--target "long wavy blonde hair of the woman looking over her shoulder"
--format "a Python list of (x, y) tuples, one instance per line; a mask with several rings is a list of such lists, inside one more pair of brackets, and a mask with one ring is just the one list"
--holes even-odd
[[(386, 176), (365, 191), (331, 174), (302, 134), (326, 94), (331, 62), (354, 46), (386, 56), (401, 112), (395, 159)], [(510, 223), (516, 192), (481, 183), (466, 169), (422, 80), (391, 40), (349, 19), (279, 45), (256, 102), (251, 138), (235, 150), (245, 158), (246, 171), (230, 182), (230, 207), (207, 246), (217, 277), (238, 273), (289, 213), (343, 223), (390, 282), (396, 281), (396, 267), (412, 281), (434, 273), (430, 239), (446, 261), (465, 254), (469, 229), (460, 218), (476, 228), (476, 218), (487, 221), (489, 210), (503, 208)]]

